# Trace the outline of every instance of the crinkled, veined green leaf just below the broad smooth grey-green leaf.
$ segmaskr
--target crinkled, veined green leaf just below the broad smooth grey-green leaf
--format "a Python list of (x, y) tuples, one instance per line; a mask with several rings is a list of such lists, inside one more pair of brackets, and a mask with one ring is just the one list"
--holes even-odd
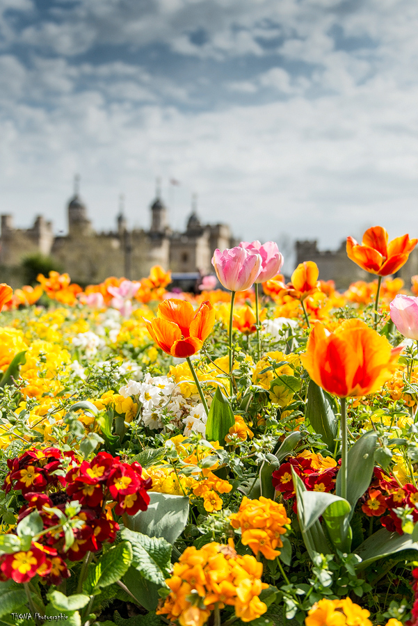
[(146, 580), (163, 586), (171, 568), (172, 545), (163, 538), (149, 537), (127, 528), (122, 538), (132, 545), (132, 567)]

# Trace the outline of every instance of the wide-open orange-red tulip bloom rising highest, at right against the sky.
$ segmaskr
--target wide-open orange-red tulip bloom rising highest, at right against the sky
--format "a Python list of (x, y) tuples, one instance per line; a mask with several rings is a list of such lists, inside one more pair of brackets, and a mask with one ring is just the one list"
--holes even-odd
[(387, 231), (381, 226), (369, 228), (363, 235), (361, 246), (353, 237), (347, 237), (348, 258), (371, 274), (394, 274), (408, 261), (418, 239), (410, 239), (408, 234), (389, 243), (388, 239)]

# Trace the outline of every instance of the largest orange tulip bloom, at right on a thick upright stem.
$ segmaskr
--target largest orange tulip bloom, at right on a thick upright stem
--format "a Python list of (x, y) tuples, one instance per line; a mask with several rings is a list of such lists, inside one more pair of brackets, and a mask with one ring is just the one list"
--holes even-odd
[(402, 346), (392, 348), (360, 319), (348, 319), (330, 335), (316, 322), (301, 355), (314, 382), (341, 398), (371, 394), (391, 376)]

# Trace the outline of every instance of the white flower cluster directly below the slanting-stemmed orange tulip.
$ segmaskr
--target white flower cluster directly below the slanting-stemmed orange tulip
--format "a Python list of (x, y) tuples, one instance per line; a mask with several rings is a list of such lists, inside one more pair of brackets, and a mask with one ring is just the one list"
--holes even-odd
[(129, 380), (127, 385), (120, 387), (119, 393), (127, 398), (137, 396), (142, 403), (141, 419), (148, 428), (162, 428), (163, 415), (170, 421), (185, 424), (185, 435), (203, 433), (207, 416), (202, 404), (193, 405), (193, 399), (186, 399), (169, 376), (145, 374), (143, 381)]

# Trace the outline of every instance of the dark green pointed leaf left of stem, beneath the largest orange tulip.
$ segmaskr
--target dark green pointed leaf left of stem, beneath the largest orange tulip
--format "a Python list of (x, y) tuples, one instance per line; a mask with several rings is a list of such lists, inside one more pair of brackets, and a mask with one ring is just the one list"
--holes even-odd
[(338, 434), (338, 420), (332, 409), (333, 401), (329, 394), (316, 385), (313, 380), (307, 387), (306, 419), (317, 435), (331, 452), (335, 449)]

